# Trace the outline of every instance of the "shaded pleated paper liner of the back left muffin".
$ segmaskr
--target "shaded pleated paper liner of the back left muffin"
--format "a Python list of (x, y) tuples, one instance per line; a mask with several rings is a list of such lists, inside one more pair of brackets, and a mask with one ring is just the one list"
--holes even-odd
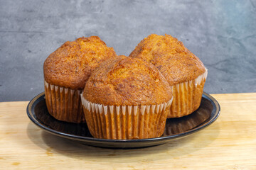
[(85, 122), (80, 94), (82, 90), (48, 84), (44, 81), (46, 106), (54, 118), (71, 123)]

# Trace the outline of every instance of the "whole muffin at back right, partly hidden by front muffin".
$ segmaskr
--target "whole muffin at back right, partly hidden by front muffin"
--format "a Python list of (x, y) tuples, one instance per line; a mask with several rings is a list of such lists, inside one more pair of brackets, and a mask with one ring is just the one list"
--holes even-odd
[(174, 101), (168, 118), (189, 115), (200, 106), (207, 69), (182, 42), (171, 35), (152, 34), (129, 56), (154, 64), (173, 86)]

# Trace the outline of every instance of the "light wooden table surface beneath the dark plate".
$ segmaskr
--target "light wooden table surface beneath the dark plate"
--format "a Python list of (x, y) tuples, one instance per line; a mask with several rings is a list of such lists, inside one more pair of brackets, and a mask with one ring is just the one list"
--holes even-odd
[(28, 101), (0, 103), (0, 169), (256, 169), (256, 94), (213, 94), (220, 117), (165, 145), (102, 149), (44, 132)]

